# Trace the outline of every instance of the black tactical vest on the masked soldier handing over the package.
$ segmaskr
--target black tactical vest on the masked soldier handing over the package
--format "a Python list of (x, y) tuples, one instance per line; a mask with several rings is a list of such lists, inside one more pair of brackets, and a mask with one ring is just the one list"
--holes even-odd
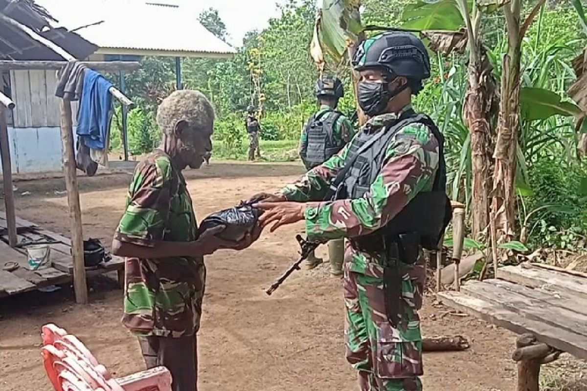
[(365, 195), (381, 171), (383, 159), (393, 135), (414, 123), (426, 125), (438, 140), (438, 168), (433, 187), (430, 192), (418, 193), (386, 226), (356, 238), (355, 240), (360, 244), (360, 247), (366, 250), (374, 247), (377, 247), (375, 249), (377, 250), (382, 245), (382, 237), (385, 240), (396, 240), (399, 235), (410, 232), (419, 234), (419, 244), (425, 249), (436, 249), (452, 214), (450, 200), (446, 196), (443, 135), (427, 115), (411, 111), (405, 113), (403, 117), (393, 125), (380, 130), (385, 133), (380, 135), (379, 139), (373, 142), (369, 148), (363, 148), (365, 149), (363, 151), (360, 151), (361, 147), (373, 137), (377, 137), (378, 132), (374, 134), (362, 132), (355, 137), (349, 147), (347, 158), (349, 162), (353, 158), (354, 161), (350, 169), (346, 171), (344, 179), (341, 178), (342, 182), (336, 189), (335, 198), (357, 199)]

